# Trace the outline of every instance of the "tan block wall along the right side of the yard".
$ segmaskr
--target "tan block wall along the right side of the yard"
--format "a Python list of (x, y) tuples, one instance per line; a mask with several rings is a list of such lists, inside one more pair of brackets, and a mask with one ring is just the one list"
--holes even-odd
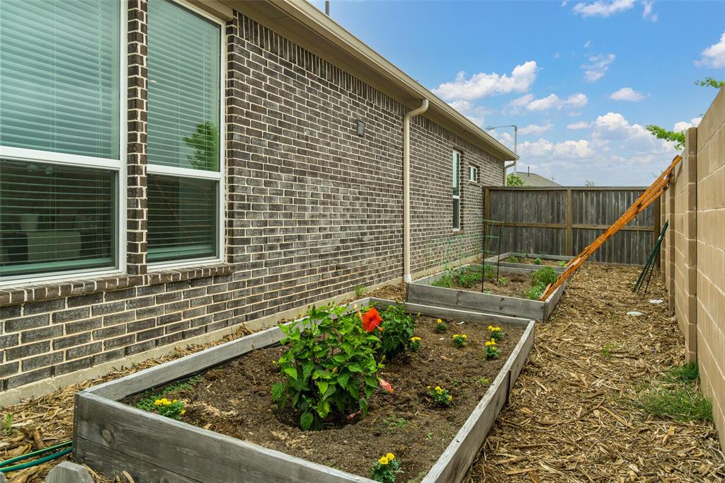
[(687, 143), (668, 189), (676, 193), (674, 209), (666, 211), (674, 247), (668, 244), (663, 261), (674, 252), (674, 268), (664, 280), (725, 446), (725, 88), (688, 131)]

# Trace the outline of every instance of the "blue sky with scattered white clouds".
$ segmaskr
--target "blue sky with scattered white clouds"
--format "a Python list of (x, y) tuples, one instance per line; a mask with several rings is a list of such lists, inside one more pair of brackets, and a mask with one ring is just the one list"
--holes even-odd
[[(324, 1), (313, 1), (324, 9)], [(725, 1), (352, 1), (331, 17), (482, 127), (519, 127), (519, 170), (648, 185), (725, 79)], [(512, 130), (494, 132), (513, 147)]]

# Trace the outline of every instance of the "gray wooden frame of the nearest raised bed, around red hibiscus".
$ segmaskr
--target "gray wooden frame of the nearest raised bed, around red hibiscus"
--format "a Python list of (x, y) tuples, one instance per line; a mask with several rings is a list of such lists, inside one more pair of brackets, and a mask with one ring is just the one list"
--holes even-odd
[[(395, 302), (365, 298), (352, 302), (355, 303), (386, 306)], [(434, 317), (526, 328), (491, 387), (421, 482), (458, 483), (465, 477), (521, 372), (534, 344), (534, 321), (444, 307), (406, 306), (411, 312)], [(78, 392), (75, 395), (73, 426), (75, 458), (111, 477), (128, 471), (136, 483), (372, 483), (364, 476), (295, 458), (118, 402), (138, 392), (186, 379), (251, 350), (275, 344), (282, 338), (281, 330), (275, 327)]]

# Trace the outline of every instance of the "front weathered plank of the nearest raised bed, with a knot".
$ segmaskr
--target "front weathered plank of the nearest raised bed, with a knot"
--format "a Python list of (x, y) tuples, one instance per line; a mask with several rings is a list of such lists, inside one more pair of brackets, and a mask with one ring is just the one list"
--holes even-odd
[[(328, 466), (270, 450), (224, 434), (175, 421), (154, 413), (104, 399), (89, 392), (76, 395), (78, 438), (115, 453), (123, 453), (125, 461), (112, 461), (115, 468), (128, 461), (139, 461), (146, 467), (167, 471), (169, 481), (182, 474), (191, 482), (200, 483), (372, 483), (373, 480), (339, 471)], [(104, 437), (105, 435), (105, 437)], [(84, 459), (90, 466), (96, 461), (92, 447), (86, 445)], [(97, 452), (99, 453), (99, 452)], [(114, 453), (107, 452), (107, 458)], [(144, 471), (128, 468), (136, 483), (156, 482)]]

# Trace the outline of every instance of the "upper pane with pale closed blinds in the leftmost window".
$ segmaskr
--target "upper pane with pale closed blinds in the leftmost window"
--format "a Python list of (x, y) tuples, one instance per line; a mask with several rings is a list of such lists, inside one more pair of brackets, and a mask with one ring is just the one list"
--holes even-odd
[(0, 0), (0, 144), (119, 158), (115, 0)]

